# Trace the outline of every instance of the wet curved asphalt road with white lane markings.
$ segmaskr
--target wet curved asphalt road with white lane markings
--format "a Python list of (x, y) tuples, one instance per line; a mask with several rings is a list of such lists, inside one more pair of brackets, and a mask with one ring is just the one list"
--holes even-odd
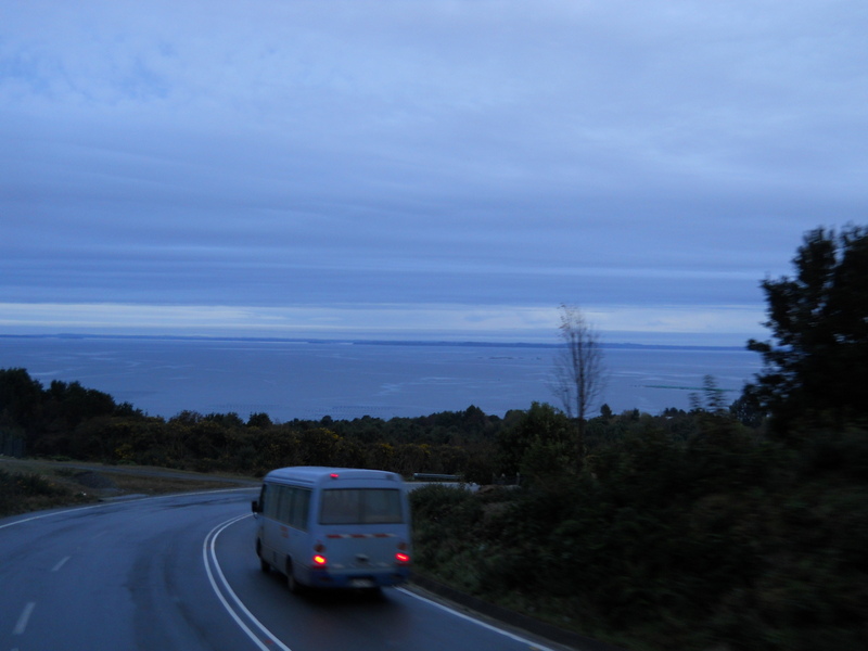
[(253, 552), (254, 490), (0, 521), (0, 651), (545, 650), (410, 590), (295, 597)]

